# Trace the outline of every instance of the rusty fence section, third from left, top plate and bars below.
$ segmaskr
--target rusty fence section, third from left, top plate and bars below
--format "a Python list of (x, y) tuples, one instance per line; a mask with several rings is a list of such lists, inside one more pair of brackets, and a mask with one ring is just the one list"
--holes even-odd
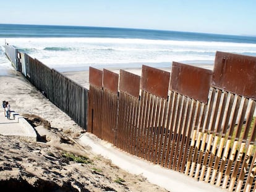
[(137, 140), (140, 76), (121, 70), (119, 91), (116, 146), (132, 154)]

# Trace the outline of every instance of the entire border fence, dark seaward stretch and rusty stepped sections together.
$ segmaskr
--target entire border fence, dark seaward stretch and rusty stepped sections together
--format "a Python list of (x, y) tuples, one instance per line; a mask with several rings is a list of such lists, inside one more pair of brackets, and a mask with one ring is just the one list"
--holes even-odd
[(216, 52), (213, 71), (173, 62), (171, 73), (142, 65), (142, 77), (90, 67), (88, 91), (17, 54), (20, 72), (90, 133), (195, 180), (256, 190), (256, 57)]

